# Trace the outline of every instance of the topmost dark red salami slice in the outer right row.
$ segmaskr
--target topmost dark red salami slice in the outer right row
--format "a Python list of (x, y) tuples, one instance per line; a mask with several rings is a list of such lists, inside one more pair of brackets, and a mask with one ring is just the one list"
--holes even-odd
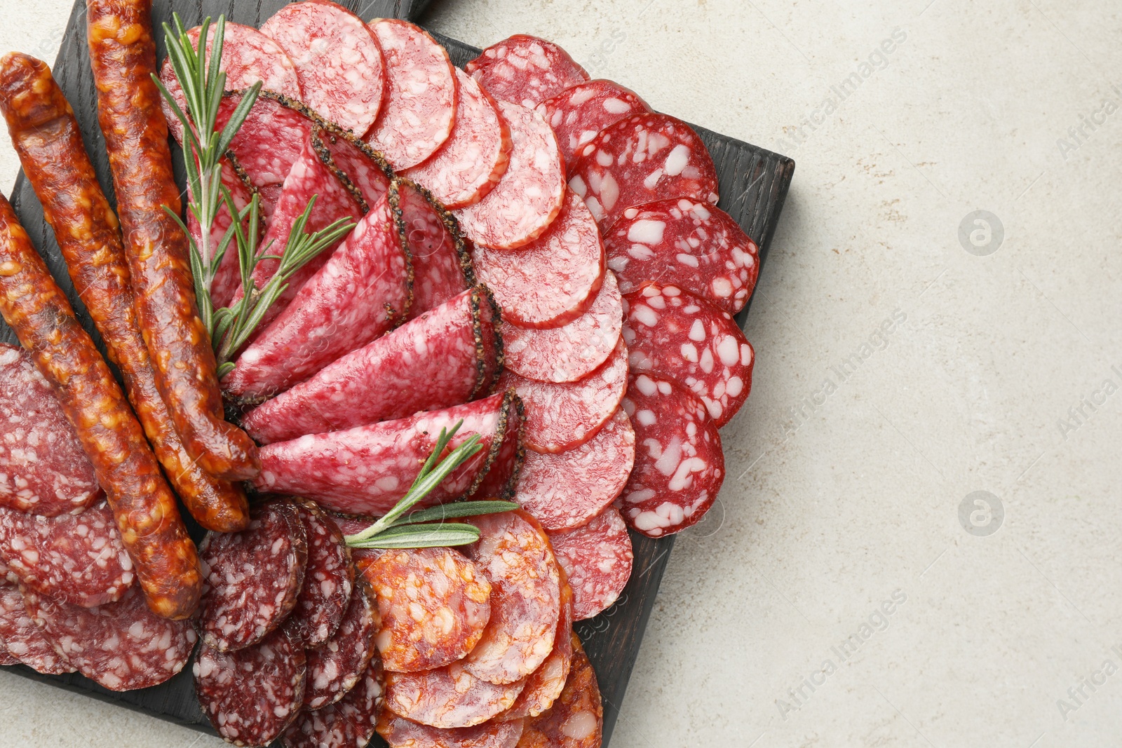
[(564, 49), (525, 34), (487, 47), (463, 70), (496, 99), (531, 108), (588, 80)]

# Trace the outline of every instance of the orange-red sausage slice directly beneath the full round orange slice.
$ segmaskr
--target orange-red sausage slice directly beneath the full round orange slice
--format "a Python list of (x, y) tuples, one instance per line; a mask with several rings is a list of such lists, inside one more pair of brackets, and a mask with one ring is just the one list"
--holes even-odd
[(495, 685), (469, 673), (462, 663), (421, 673), (386, 673), (386, 709), (430, 727), (475, 727), (509, 709), (525, 683)]

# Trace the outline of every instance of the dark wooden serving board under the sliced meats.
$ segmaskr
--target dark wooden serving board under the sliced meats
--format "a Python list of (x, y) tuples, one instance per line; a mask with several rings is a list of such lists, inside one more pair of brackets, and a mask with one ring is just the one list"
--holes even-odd
[[(423, 22), (422, 11), (427, 0), (340, 0), (342, 4), (362, 18), (408, 18)], [(197, 25), (205, 16), (227, 18), (241, 24), (259, 26), (288, 0), (155, 0), (154, 16), (158, 28), (162, 21), (171, 20), (173, 10), (182, 16), (188, 27)], [(162, 38), (163, 35), (158, 34)], [(479, 50), (466, 44), (438, 36), (444, 44), (452, 61), (463, 65)], [(163, 59), (164, 49), (159, 49)], [(104, 142), (98, 129), (96, 98), (90, 73), (85, 46), (85, 2), (76, 0), (63, 38), (62, 49), (54, 65), (58, 84), (70, 99), (85, 137), (86, 149), (93, 159), (105, 193), (113, 198), (109, 165)], [(688, 112), (670, 112), (688, 119)], [(696, 128), (705, 140), (717, 166), (720, 179), (721, 200), (719, 206), (730, 213), (744, 230), (760, 244), (761, 264), (767, 255), (775, 224), (779, 221), (783, 201), (794, 173), (794, 161), (733, 138), (703, 128)], [(182, 186), (182, 185), (181, 185)], [(49, 227), (43, 219), (43, 209), (35, 197), (22, 173), (16, 181), (12, 203), (36, 247), (44, 255), (50, 271), (66, 292), (85, 325), (100, 343), (100, 338), (85, 308), (74, 293), (66, 267)], [(744, 324), (748, 310), (738, 315)], [(0, 339), (16, 343), (10, 329), (0, 322)], [(197, 528), (195, 528), (197, 529)], [(197, 535), (196, 535), (197, 537)], [(627, 681), (638, 655), (643, 630), (646, 627), (659, 582), (670, 558), (673, 537), (653, 541), (632, 534), (635, 546), (635, 567), (631, 582), (619, 600), (610, 609), (591, 620), (578, 624), (577, 631), (585, 641), (585, 648), (596, 668), (600, 691), (604, 695), (604, 739), (607, 745), (623, 703)], [(45, 676), (24, 666), (6, 668), (38, 681), (50, 683), (71, 691), (85, 693), (95, 699), (136, 709), (160, 719), (186, 724), (205, 732), (213, 729), (202, 715), (195, 699), (190, 667), (167, 683), (144, 691), (114, 693), (79, 675)], [(375, 744), (381, 745), (380, 738)], [(371, 745), (375, 745), (371, 744)]]

